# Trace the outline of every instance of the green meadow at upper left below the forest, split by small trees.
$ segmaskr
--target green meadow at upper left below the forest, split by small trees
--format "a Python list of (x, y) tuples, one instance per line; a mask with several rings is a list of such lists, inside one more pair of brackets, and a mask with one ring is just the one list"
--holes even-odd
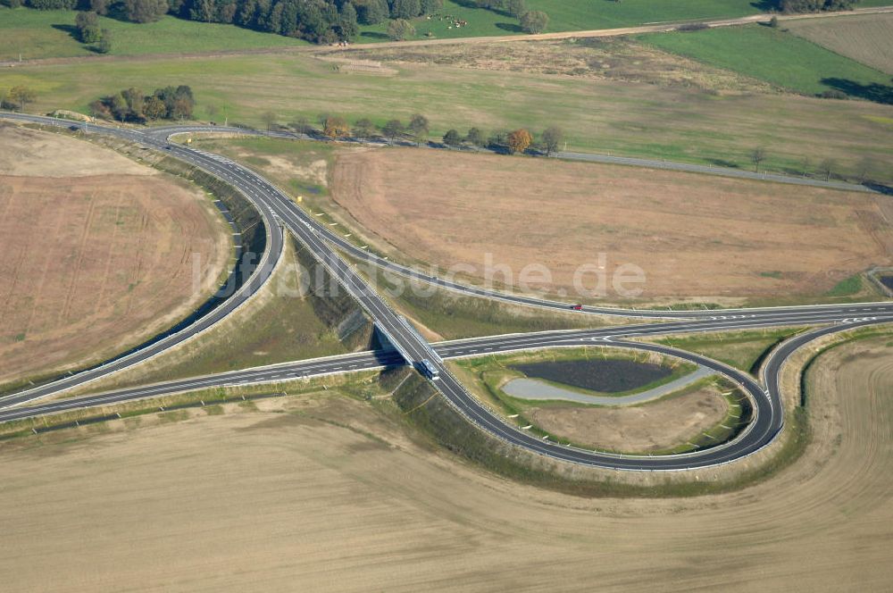
[[(0, 7), (0, 61), (96, 55), (74, 38), (74, 11), (11, 10)], [(306, 46), (305, 41), (232, 25), (183, 21), (166, 16), (137, 24), (100, 18), (112, 31), (113, 55), (189, 54), (196, 52)]]

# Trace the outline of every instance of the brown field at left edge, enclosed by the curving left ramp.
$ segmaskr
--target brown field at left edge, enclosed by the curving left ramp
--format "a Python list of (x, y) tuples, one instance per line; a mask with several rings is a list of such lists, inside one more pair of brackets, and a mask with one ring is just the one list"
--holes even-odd
[(231, 231), (196, 189), (47, 132), (0, 128), (0, 145), (0, 382), (136, 345), (216, 286)]

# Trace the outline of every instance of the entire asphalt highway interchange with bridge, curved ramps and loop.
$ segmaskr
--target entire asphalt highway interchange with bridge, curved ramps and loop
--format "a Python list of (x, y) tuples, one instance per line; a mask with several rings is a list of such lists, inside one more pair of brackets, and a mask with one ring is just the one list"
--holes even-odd
[[(537, 306), (554, 310), (567, 310), (567, 303), (539, 299), (535, 296), (513, 295), (488, 290), (430, 276), (422, 271), (390, 262), (369, 253), (331, 232), (313, 219), (279, 188), (251, 171), (225, 157), (212, 155), (188, 146), (173, 144), (172, 135), (184, 132), (246, 132), (246, 130), (213, 127), (172, 127), (163, 129), (123, 129), (72, 124), (53, 118), (3, 113), (2, 116), (16, 121), (26, 121), (56, 127), (78, 126), (88, 134), (105, 134), (138, 143), (155, 150), (163, 150), (180, 160), (194, 165), (236, 188), (260, 213), (267, 233), (266, 248), (260, 262), (245, 284), (232, 296), (197, 318), (186, 327), (147, 343), (144, 347), (122, 355), (94, 368), (71, 374), (45, 385), (26, 389), (0, 397), (0, 422), (21, 420), (49, 413), (98, 405), (109, 405), (134, 399), (157, 397), (198, 388), (240, 386), (247, 384), (276, 383), (307, 377), (341, 372), (358, 372), (380, 369), (400, 364), (418, 366), (430, 361), (439, 374), (432, 381), (440, 394), (456, 411), (480, 430), (518, 447), (575, 464), (586, 464), (618, 470), (674, 471), (724, 464), (751, 455), (769, 445), (783, 428), (784, 411), (780, 392), (780, 372), (784, 363), (800, 347), (842, 330), (872, 324), (893, 322), (893, 304), (862, 303), (847, 305), (802, 305), (751, 309), (657, 311), (620, 309), (612, 307), (584, 306), (581, 314), (622, 316), (645, 320), (645, 323), (618, 325), (592, 330), (556, 330), (530, 334), (510, 334), (488, 338), (471, 338), (430, 344), (419, 332), (396, 313), (393, 308), (363, 280), (354, 267), (338, 253), (345, 252), (355, 259), (372, 263), (414, 280), (436, 284), (442, 288), (471, 296), (492, 298), (515, 305)], [(627, 163), (643, 164), (643, 163)], [(716, 172), (716, 171), (705, 171)], [(780, 180), (784, 182), (784, 180)], [(842, 185), (842, 184), (838, 184)], [(865, 190), (861, 186), (852, 186)], [(281, 226), (280, 226), (281, 225)], [(139, 388), (121, 389), (96, 396), (72, 397), (38, 404), (38, 400), (57, 395), (65, 390), (88, 384), (113, 372), (141, 363), (146, 359), (196, 337), (204, 330), (246, 305), (257, 290), (269, 279), (279, 261), (283, 247), (283, 227), (293, 234), (339, 283), (354, 296), (369, 314), (376, 328), (387, 338), (394, 350), (360, 352), (308, 361), (278, 364), (270, 367), (226, 372), (188, 380), (175, 380)], [(773, 326), (820, 326), (818, 329), (798, 334), (780, 344), (764, 362), (760, 380), (705, 356), (695, 355), (673, 347), (631, 341), (630, 338), (666, 336), (686, 332), (703, 332), (736, 329), (767, 328)], [(488, 355), (522, 349), (545, 347), (570, 347), (594, 344), (602, 347), (635, 348), (663, 355), (675, 356), (705, 366), (724, 375), (750, 398), (754, 416), (747, 428), (737, 438), (716, 447), (697, 450), (688, 454), (639, 456), (613, 455), (578, 447), (569, 447), (549, 438), (538, 438), (518, 430), (501, 420), (486, 405), (473, 397), (463, 384), (456, 380), (443, 362), (450, 358)]]

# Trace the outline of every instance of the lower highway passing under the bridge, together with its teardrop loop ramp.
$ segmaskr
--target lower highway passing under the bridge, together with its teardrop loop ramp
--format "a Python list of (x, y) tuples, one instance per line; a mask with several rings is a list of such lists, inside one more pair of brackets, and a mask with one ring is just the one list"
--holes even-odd
[[(813, 322), (828, 323), (828, 320), (816, 319)], [(750, 322), (749, 325), (742, 325), (741, 323), (744, 322), (725, 324), (713, 322), (705, 323), (702, 327), (691, 327), (688, 323), (679, 322), (663, 324), (664, 326), (672, 327), (647, 324), (598, 330), (564, 330), (538, 334), (510, 334), (488, 338), (454, 340), (434, 345), (438, 354), (445, 359), (499, 354), (544, 347), (579, 347), (589, 344), (602, 347), (648, 350), (704, 365), (706, 368), (720, 373), (739, 384), (754, 405), (754, 419), (748, 425), (747, 430), (730, 443), (684, 455), (663, 455), (659, 457), (613, 455), (567, 447), (553, 440), (533, 437), (529, 433), (505, 423), (497, 414), (492, 413), (487, 406), (469, 395), (463, 386), (457, 385), (452, 376), (443, 377), (439, 380), (438, 383), (440, 385), (438, 387), (441, 389), (441, 392), (445, 392), (447, 401), (481, 430), (486, 430), (491, 435), (505, 442), (528, 448), (541, 455), (576, 464), (622, 470), (683, 470), (706, 467), (727, 463), (742, 456), (751, 455), (771, 443), (772, 439), (781, 430), (784, 416), (781, 405), (779, 377), (783, 364), (788, 360), (789, 355), (793, 354), (799, 347), (803, 347), (824, 335), (843, 330), (852, 330), (879, 322), (893, 322), (893, 315), (886, 318), (839, 320), (839, 322), (830, 323), (818, 330), (806, 332), (789, 339), (780, 345), (764, 363), (761, 374), (763, 375), (763, 383), (768, 388), (764, 388), (747, 373), (739, 372), (705, 356), (694, 355), (673, 347), (630, 342), (627, 339), (630, 337), (661, 336), (671, 331), (735, 330), (748, 327), (764, 327), (759, 324), (760, 322)], [(245, 371), (224, 372), (186, 380), (168, 381), (138, 388), (121, 389), (96, 396), (63, 399), (44, 405), (10, 408), (0, 410), (0, 422), (21, 420), (87, 407), (113, 405), (146, 397), (171, 395), (196, 389), (259, 384), (274, 385), (289, 380), (320, 377), (335, 373), (369, 371), (402, 364), (405, 364), (405, 359), (396, 351), (361, 352), (331, 356), (309, 361), (247, 369)]]

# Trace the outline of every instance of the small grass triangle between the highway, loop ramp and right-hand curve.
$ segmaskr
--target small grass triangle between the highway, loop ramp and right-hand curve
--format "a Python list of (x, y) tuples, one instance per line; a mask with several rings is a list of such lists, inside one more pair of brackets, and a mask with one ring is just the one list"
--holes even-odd
[(765, 356), (773, 347), (803, 330), (805, 328), (728, 331), (680, 335), (646, 341), (654, 341), (656, 344), (665, 344), (680, 348), (680, 350), (705, 355), (739, 369), (739, 371), (756, 374)]

